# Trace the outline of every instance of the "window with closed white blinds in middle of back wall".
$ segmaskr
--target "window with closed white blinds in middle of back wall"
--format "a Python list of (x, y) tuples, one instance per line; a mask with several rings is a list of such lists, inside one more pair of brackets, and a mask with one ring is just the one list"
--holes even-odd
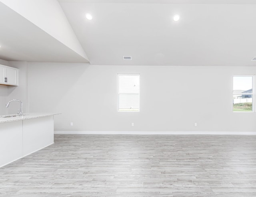
[(140, 75), (118, 74), (118, 111), (140, 110)]

